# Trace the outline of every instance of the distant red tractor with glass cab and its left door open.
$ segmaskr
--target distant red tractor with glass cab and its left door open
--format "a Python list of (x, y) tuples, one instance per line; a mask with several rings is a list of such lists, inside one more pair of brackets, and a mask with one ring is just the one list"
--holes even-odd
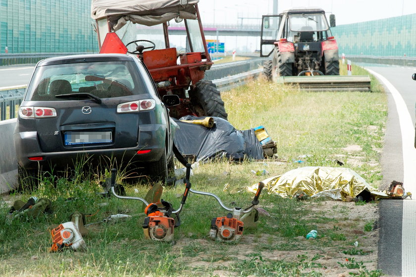
[[(331, 34), (335, 15), (328, 24), (319, 8), (294, 8), (263, 15), (260, 56), (268, 79), (279, 76), (339, 75), (338, 45)], [(311, 79), (312, 80), (312, 79)]]

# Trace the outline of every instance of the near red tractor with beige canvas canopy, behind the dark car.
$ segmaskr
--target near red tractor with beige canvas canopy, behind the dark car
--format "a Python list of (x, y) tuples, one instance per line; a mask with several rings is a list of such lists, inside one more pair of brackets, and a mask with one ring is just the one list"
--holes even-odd
[[(180, 105), (169, 107), (172, 117), (227, 119), (220, 92), (203, 80), (212, 61), (198, 2), (92, 0), (91, 17), (96, 20), (100, 53), (137, 55), (149, 69), (160, 98), (179, 96)], [(185, 45), (177, 32), (186, 32)]]

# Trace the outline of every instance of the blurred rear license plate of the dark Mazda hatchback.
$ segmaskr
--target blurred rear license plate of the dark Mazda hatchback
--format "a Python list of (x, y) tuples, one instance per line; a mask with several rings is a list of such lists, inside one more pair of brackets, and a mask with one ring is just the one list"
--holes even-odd
[(72, 131), (64, 134), (65, 145), (111, 143), (111, 131)]

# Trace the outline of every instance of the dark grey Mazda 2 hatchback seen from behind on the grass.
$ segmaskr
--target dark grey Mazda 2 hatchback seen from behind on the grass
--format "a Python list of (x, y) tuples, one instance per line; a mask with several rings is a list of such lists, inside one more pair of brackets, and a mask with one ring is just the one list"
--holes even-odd
[(145, 167), (147, 175), (164, 181), (173, 163), (168, 110), (147, 68), (128, 55), (38, 62), (19, 108), (14, 143), (20, 178), (87, 161), (128, 166), (133, 173)]

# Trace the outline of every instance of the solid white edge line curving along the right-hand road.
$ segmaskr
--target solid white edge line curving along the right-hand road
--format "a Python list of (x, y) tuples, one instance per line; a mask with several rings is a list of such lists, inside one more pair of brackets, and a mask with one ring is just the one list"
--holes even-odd
[[(412, 123), (412, 117), (399, 91), (382, 75), (372, 70), (367, 70), (384, 83), (396, 103), (402, 133), (403, 185), (406, 191), (416, 194), (415, 127)], [(402, 276), (416, 276), (416, 201), (409, 200), (403, 201)]]

